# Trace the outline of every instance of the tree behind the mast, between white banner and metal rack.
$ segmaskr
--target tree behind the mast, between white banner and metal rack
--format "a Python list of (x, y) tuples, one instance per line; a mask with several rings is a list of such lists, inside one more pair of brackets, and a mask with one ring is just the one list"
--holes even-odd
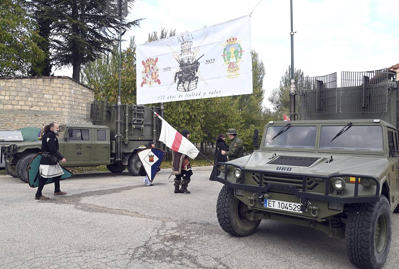
[[(295, 81), (300, 81), (304, 76), (301, 69), (294, 69), (294, 79)], [(272, 103), (275, 109), (275, 117), (282, 120), (282, 115), (289, 115), (290, 113), (290, 84), (291, 84), (291, 67), (285, 71), (284, 75), (280, 80), (280, 87), (274, 89), (269, 97), (269, 102)]]

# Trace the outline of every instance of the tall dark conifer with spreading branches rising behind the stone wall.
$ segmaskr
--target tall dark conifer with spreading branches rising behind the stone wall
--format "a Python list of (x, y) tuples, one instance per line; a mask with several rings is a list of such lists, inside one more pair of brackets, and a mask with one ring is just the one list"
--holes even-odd
[[(55, 66), (72, 66), (72, 78), (79, 81), (82, 65), (112, 52), (117, 42), (119, 18), (107, 18), (107, 1), (36, 0), (43, 18), (51, 20), (52, 60)], [(133, 3), (134, 0), (129, 0)], [(48, 3), (48, 6), (45, 5)], [(140, 20), (122, 20), (122, 31), (139, 26)]]

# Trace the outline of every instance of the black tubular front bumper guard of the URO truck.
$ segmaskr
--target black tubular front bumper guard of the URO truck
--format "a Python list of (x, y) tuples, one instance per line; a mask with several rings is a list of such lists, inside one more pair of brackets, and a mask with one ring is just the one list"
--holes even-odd
[[(241, 178), (237, 179), (236, 183), (229, 182), (227, 180), (227, 172), (224, 173), (224, 178), (220, 176), (215, 176), (215, 180), (221, 182), (222, 184), (225, 184), (231, 188), (239, 189), (239, 190), (250, 190), (254, 192), (258, 192), (258, 203), (262, 204), (263, 203), (263, 194), (265, 194), (269, 189), (277, 189), (280, 191), (287, 191), (290, 193), (293, 193), (296, 197), (300, 198), (300, 202), (302, 205), (306, 203), (306, 199), (314, 199), (314, 200), (321, 200), (321, 201), (326, 201), (326, 202), (333, 202), (333, 203), (340, 203), (340, 204), (353, 204), (353, 203), (367, 203), (367, 202), (378, 202), (380, 197), (379, 197), (379, 190), (380, 190), (380, 183), (377, 178), (372, 177), (372, 176), (365, 176), (365, 175), (358, 175), (358, 174), (332, 174), (330, 176), (320, 176), (320, 175), (312, 175), (312, 174), (300, 174), (300, 173), (291, 173), (291, 172), (278, 172), (278, 171), (264, 171), (264, 170), (255, 170), (255, 169), (247, 169), (247, 168), (242, 168), (241, 166), (237, 164), (232, 164), (229, 162), (219, 162), (216, 164), (217, 168), (220, 168), (221, 165), (226, 166), (226, 171), (227, 171), (227, 166), (234, 166), (235, 168), (241, 169)], [(297, 177), (302, 177), (302, 191), (298, 190), (296, 186), (288, 186), (288, 185), (282, 185), (282, 184), (274, 184), (274, 183), (267, 183), (263, 184), (262, 180), (259, 180), (258, 185), (248, 185), (244, 184), (244, 175), (245, 172), (257, 172), (260, 174), (260, 178), (262, 178), (263, 174), (267, 175), (286, 175), (286, 176), (297, 176)], [(320, 178), (324, 181), (324, 194), (316, 194), (316, 193), (311, 193), (311, 192), (306, 192), (306, 177), (316, 177)], [(355, 181), (355, 189), (354, 189), (354, 196), (353, 197), (338, 197), (338, 196), (331, 196), (330, 195), (330, 190), (329, 190), (329, 181), (330, 178), (336, 178), (336, 177), (356, 177)], [(374, 196), (358, 196), (358, 188), (359, 188), (359, 178), (370, 178), (373, 180), (376, 184), (376, 192)]]

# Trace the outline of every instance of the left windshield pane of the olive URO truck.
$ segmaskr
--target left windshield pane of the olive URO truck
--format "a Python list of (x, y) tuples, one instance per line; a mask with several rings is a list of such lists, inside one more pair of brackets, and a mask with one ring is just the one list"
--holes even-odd
[[(265, 147), (314, 148), (316, 126), (290, 126), (276, 136), (284, 126), (269, 126), (266, 131)], [(335, 135), (335, 134), (334, 134)], [(275, 137), (276, 136), (276, 137)], [(273, 137), (275, 137), (273, 139)]]

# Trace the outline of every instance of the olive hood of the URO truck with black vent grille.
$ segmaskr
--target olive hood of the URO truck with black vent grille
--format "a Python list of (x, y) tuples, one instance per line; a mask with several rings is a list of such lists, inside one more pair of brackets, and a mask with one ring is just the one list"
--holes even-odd
[[(231, 162), (241, 159), (239, 158)], [(282, 159), (285, 159), (285, 161), (282, 162)], [(244, 166), (247, 169), (287, 173), (321, 176), (358, 174), (379, 178), (392, 164), (393, 162), (390, 158), (384, 155), (255, 151), (247, 160), (242, 160), (241, 164), (238, 165)]]

